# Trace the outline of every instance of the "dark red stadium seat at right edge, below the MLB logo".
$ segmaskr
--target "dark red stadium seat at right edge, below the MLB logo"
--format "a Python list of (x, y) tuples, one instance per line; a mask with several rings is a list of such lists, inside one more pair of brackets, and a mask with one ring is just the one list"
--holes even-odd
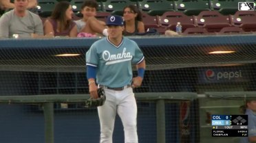
[(256, 31), (256, 12), (237, 11), (231, 16), (231, 23), (244, 31)]

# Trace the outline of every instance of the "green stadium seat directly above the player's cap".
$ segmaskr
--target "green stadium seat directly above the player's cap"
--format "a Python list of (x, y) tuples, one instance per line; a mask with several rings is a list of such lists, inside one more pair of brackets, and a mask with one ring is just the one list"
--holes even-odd
[(136, 1), (129, 0), (107, 0), (103, 1), (103, 12), (111, 12), (111, 14), (116, 14), (122, 16), (123, 8), (127, 5), (137, 5)]

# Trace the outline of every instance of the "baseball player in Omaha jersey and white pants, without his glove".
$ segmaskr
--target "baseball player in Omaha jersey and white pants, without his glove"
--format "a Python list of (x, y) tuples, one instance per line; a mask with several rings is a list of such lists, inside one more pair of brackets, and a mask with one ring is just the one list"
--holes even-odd
[[(144, 55), (136, 42), (122, 37), (121, 16), (108, 16), (106, 25), (109, 36), (94, 42), (86, 53), (89, 94), (98, 98), (98, 87), (103, 87), (106, 94), (105, 104), (98, 107), (100, 143), (112, 143), (116, 114), (122, 120), (125, 143), (138, 143), (133, 88), (142, 83), (146, 66)], [(136, 64), (137, 77), (133, 78), (131, 64)]]

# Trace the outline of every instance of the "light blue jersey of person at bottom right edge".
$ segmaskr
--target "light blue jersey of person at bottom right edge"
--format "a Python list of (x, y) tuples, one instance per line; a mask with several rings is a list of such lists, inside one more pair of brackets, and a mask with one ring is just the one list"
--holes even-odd
[[(248, 115), (248, 137), (256, 136), (256, 114), (251, 109), (246, 109)], [(240, 143), (249, 143), (248, 137), (241, 137)]]

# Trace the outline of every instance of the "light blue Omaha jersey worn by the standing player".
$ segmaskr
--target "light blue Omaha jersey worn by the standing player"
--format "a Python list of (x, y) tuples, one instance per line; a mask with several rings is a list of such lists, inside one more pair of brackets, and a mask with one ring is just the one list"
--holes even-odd
[(108, 38), (100, 39), (86, 53), (86, 65), (97, 67), (97, 83), (110, 88), (131, 85), (131, 64), (140, 64), (143, 60), (138, 44), (124, 37), (118, 46)]

